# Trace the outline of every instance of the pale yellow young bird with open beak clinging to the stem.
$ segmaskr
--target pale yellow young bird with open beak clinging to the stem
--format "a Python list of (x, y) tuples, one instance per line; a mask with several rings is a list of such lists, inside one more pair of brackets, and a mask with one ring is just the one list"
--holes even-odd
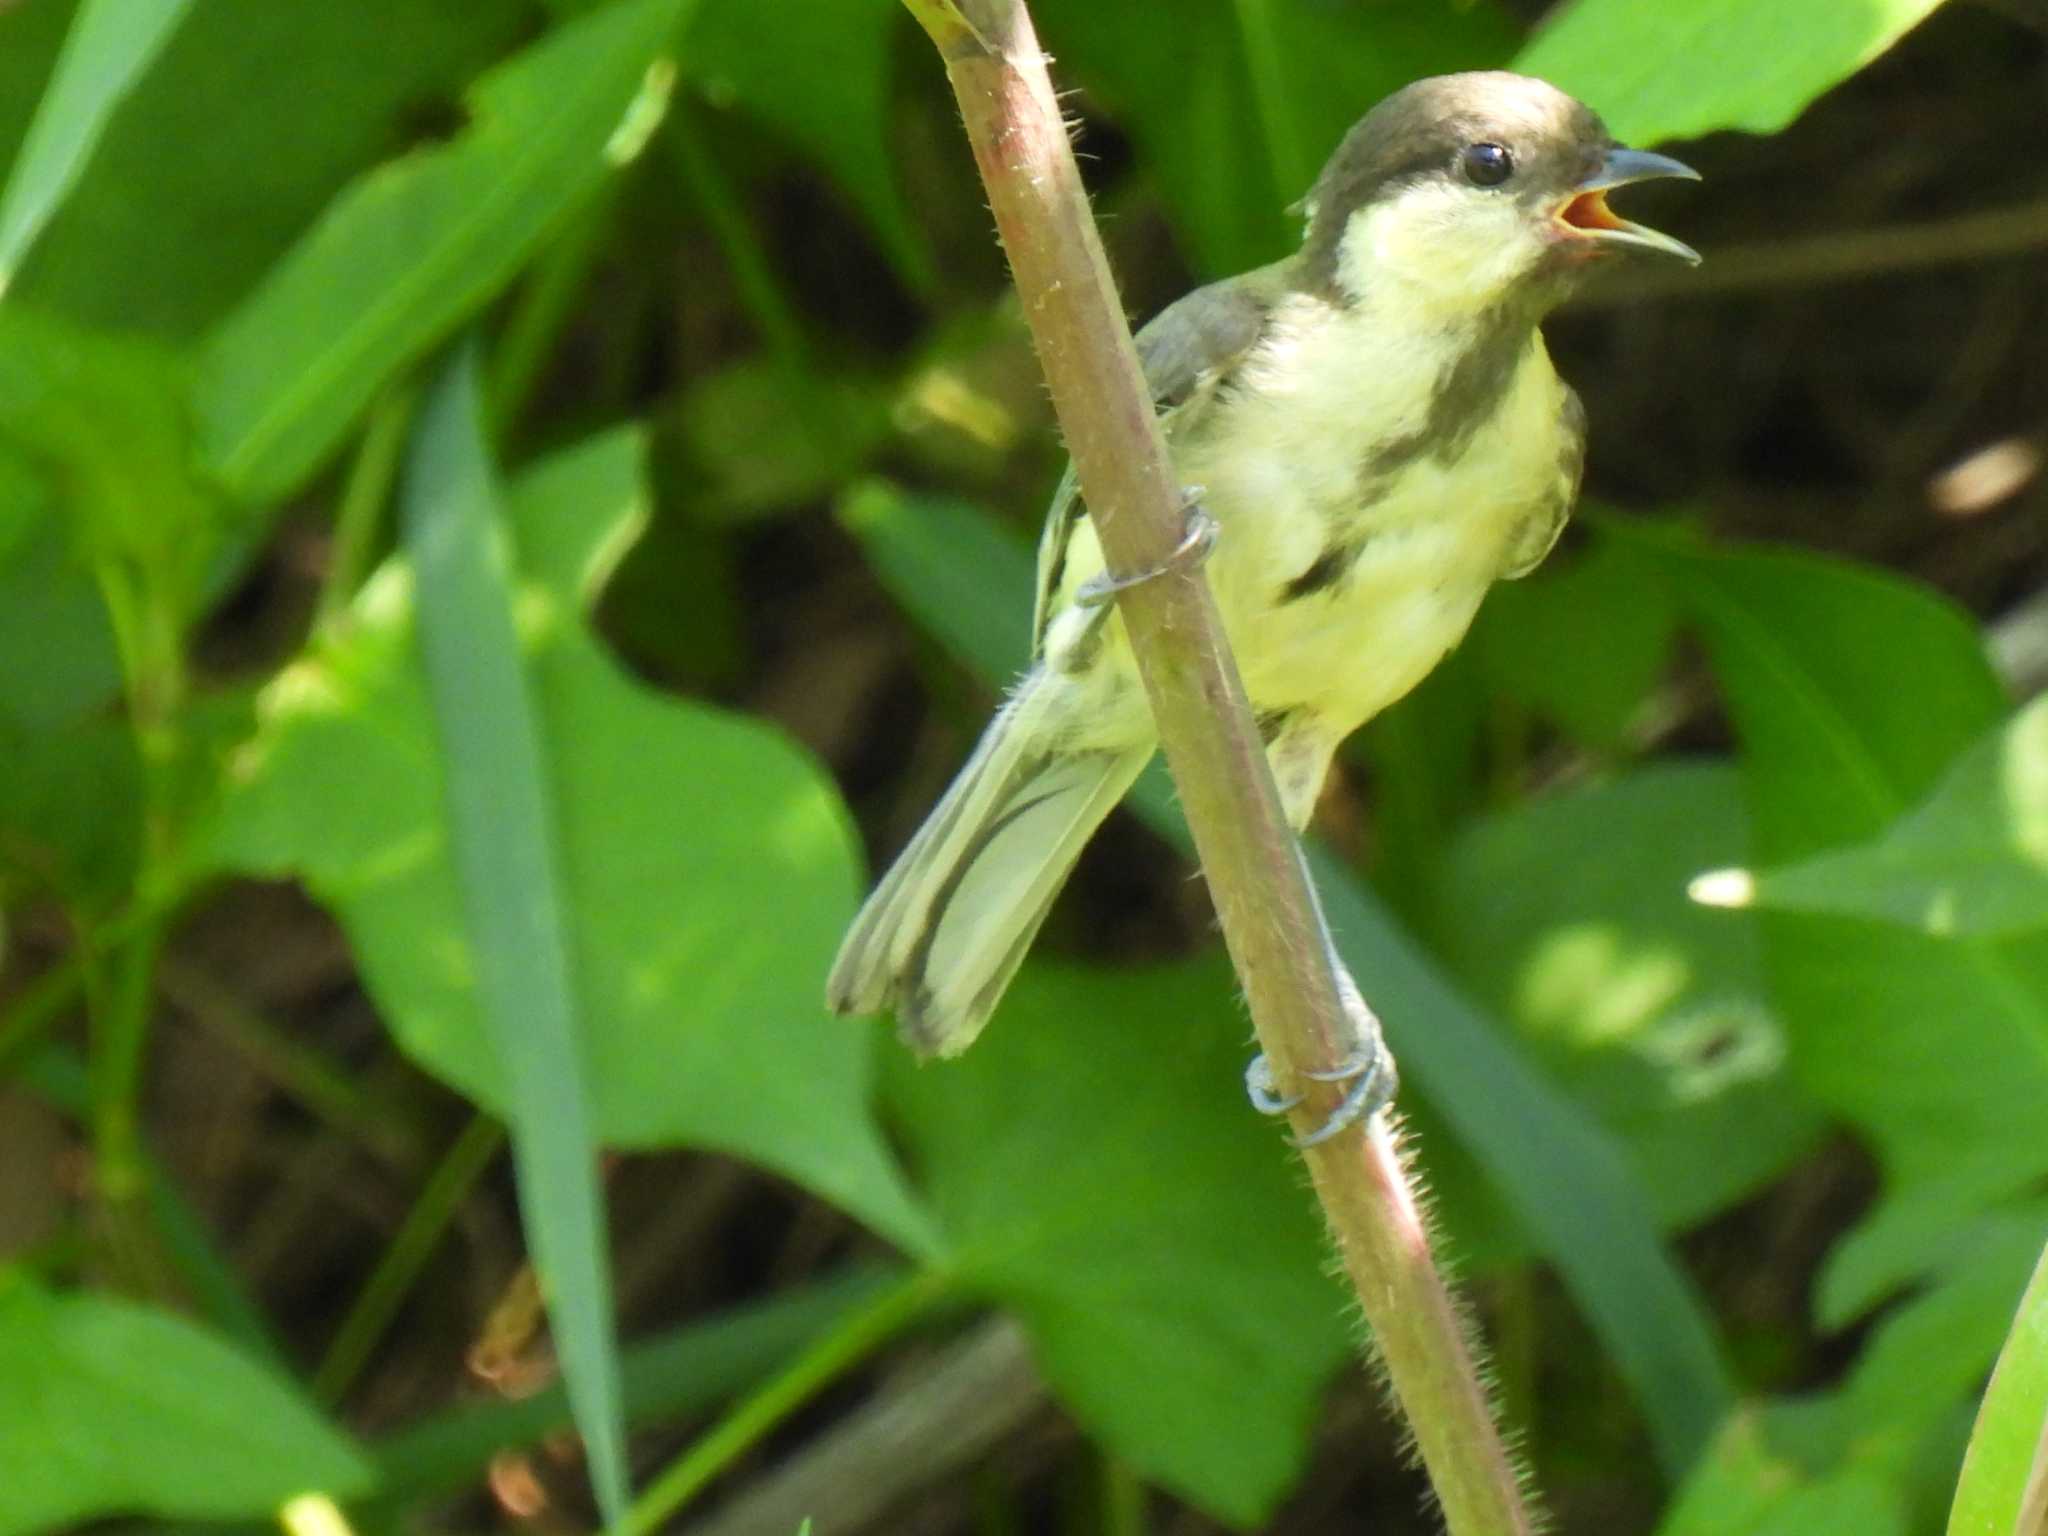
[[(1296, 834), (1337, 745), (1427, 676), (1493, 582), (1556, 543), (1585, 412), (1540, 322), (1595, 258), (1700, 260), (1608, 207), (1614, 188), (1665, 176), (1698, 180), (1616, 143), (1542, 80), (1417, 80), (1339, 141), (1298, 205), (1294, 254), (1192, 291), (1137, 334), (1190, 487), (1184, 553), (1208, 555)], [(1157, 748), (1106, 600), (1128, 580), (1106, 575), (1069, 467), (1038, 545), (1030, 670), (854, 918), (831, 1012), (893, 1012), (911, 1049), (936, 1057), (983, 1030)], [(1337, 971), (1372, 1034), (1341, 1071), (1370, 1077), (1376, 1022)], [(1260, 1067), (1253, 1102), (1284, 1108)]]

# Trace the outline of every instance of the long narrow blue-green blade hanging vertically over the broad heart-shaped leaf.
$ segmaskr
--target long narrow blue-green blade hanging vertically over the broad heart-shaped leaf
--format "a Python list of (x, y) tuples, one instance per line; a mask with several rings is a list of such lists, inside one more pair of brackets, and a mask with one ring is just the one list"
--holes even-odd
[(406, 467), (406, 553), (477, 1014), (512, 1130), (520, 1212), (606, 1522), (627, 1507), (610, 1237), (571, 981), (551, 748), (530, 692), (475, 348), (440, 371)]

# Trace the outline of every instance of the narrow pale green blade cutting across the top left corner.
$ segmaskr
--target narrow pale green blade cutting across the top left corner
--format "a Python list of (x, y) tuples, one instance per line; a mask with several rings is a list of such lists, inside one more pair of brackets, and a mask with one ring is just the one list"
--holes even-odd
[(86, 0), (80, 6), (0, 195), (0, 293), (12, 285), (23, 254), (92, 158), (106, 119), (147, 72), (186, 10), (190, 0), (158, 0), (141, 12), (125, 0)]

